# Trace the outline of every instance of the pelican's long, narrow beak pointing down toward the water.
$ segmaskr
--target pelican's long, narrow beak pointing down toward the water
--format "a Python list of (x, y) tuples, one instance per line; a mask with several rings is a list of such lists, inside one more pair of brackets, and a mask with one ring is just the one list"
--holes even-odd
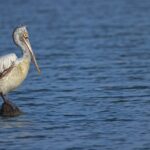
[(23, 41), (24, 41), (25, 45), (27, 46), (27, 48), (28, 48), (28, 50), (29, 50), (29, 52), (30, 52), (30, 54), (31, 54), (32, 62), (34, 63), (34, 65), (35, 65), (35, 67), (36, 67), (38, 73), (40, 74), (41, 71), (40, 71), (40, 68), (39, 68), (39, 66), (38, 66), (38, 64), (37, 64), (37, 61), (36, 61), (36, 58), (35, 58), (35, 54), (34, 54), (34, 52), (33, 52), (33, 50), (32, 50), (32, 47), (31, 47), (31, 44), (30, 44), (29, 39), (23, 37)]

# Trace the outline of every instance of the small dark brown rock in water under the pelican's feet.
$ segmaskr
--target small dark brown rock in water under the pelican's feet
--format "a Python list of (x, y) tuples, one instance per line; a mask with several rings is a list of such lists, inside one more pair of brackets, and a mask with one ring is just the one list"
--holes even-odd
[(22, 111), (12, 102), (4, 102), (0, 109), (0, 115), (5, 117), (14, 117), (22, 114)]

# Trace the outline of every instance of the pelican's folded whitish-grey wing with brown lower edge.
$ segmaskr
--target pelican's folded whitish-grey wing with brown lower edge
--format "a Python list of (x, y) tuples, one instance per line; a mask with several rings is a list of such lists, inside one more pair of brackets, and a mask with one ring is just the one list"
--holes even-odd
[(8, 54), (0, 57), (0, 78), (9, 72), (17, 60), (16, 54)]

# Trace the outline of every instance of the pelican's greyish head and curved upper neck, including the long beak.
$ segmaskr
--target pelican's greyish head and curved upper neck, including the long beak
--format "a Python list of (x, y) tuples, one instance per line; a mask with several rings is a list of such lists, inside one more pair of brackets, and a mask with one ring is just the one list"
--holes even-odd
[(40, 68), (37, 64), (35, 54), (33, 53), (30, 41), (29, 41), (29, 35), (26, 26), (17, 27), (13, 32), (13, 40), (14, 43), (17, 46), (20, 46), (24, 52), (29, 52), (32, 62), (37, 68), (37, 71), (40, 73)]

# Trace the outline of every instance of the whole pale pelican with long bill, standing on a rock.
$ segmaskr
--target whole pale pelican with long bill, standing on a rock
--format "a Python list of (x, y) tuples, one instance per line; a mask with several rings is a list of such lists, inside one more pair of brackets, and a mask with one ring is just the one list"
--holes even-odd
[(25, 80), (31, 61), (40, 73), (26, 26), (14, 30), (13, 41), (22, 49), (23, 56), (17, 58), (16, 54), (11, 53), (0, 57), (0, 96), (4, 103), (9, 103), (6, 94), (15, 90)]

